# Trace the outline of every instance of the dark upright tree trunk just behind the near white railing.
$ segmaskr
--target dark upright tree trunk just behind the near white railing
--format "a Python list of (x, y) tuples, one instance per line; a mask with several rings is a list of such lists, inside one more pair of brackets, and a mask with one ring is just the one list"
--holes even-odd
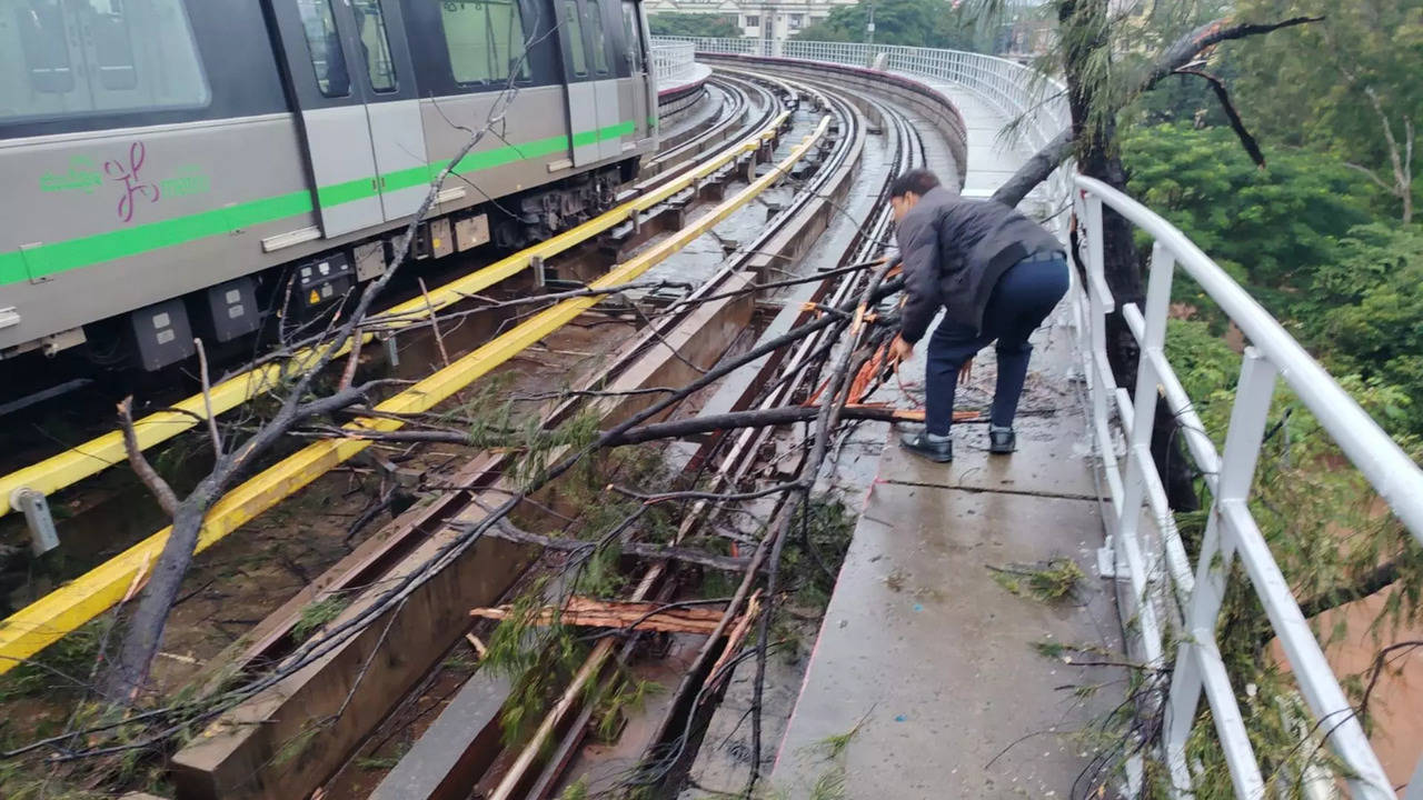
[[(1126, 192), (1127, 171), (1117, 151), (1117, 114), (1107, 108), (1103, 95), (1110, 91), (1103, 78), (1093, 74), (1093, 64), (1107, 57), (1111, 47), (1107, 0), (1062, 0), (1057, 7), (1063, 31), (1063, 71), (1067, 78), (1067, 104), (1072, 110), (1072, 140), (1077, 142), (1077, 169), (1109, 186)], [(1146, 286), (1141, 280), (1141, 259), (1131, 241), (1131, 223), (1103, 206), (1101, 245), (1107, 286), (1116, 300), (1116, 310), (1107, 315), (1107, 362), (1117, 386), (1136, 393), (1137, 362), (1141, 350), (1127, 327), (1121, 307), (1127, 303), (1144, 305)], [(1151, 454), (1165, 484), (1173, 508), (1194, 510), (1197, 497), (1191, 487), (1190, 463), (1175, 436), (1175, 416), (1164, 399), (1157, 401)]]

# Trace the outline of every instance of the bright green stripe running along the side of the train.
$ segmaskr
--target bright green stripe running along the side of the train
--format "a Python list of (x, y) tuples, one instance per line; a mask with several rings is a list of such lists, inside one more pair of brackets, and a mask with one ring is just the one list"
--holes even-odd
[[(629, 121), (599, 128), (596, 131), (582, 131), (573, 135), (573, 145), (578, 147), (582, 144), (593, 144), (601, 140), (620, 138), (632, 134), (635, 127), (636, 125)], [(564, 135), (548, 137), (524, 144), (511, 144), (482, 152), (467, 154), (460, 159), (460, 164), (455, 165), (454, 171), (458, 174), (478, 172), (481, 169), (491, 169), (494, 167), (502, 167), (505, 164), (514, 164), (528, 158), (551, 155), (568, 148), (569, 140)], [(448, 161), (437, 161), (424, 167), (411, 167), (408, 169), (386, 172), (381, 175), (381, 179), (384, 179), (386, 184), (384, 191), (391, 192), (411, 186), (428, 185), (430, 181), (435, 178), (448, 164)], [(377, 196), (380, 191), (376, 188), (374, 178), (360, 178), (357, 181), (344, 181), (340, 184), (319, 186), (316, 194), (322, 205), (330, 206)], [(205, 239), (208, 236), (233, 233), (243, 228), (250, 228), (252, 225), (276, 222), (290, 216), (310, 214), (313, 209), (312, 194), (303, 189), (273, 198), (262, 198), (226, 208), (178, 216), (174, 219), (135, 225), (120, 231), (108, 231), (105, 233), (80, 236), (64, 242), (38, 245), (23, 252), (0, 252), (0, 286), (21, 283), (71, 269), (92, 266), (105, 260), (182, 245)]]

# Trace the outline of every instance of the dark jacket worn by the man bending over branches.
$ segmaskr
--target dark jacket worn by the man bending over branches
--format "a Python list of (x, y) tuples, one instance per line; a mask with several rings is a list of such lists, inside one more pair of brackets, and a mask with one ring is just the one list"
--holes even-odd
[(1063, 252), (1042, 225), (993, 201), (963, 199), (943, 186), (919, 198), (895, 232), (904, 259), (899, 335), (924, 337), (942, 305), (948, 319), (983, 329), (983, 309), (1007, 268), (1040, 252)]

